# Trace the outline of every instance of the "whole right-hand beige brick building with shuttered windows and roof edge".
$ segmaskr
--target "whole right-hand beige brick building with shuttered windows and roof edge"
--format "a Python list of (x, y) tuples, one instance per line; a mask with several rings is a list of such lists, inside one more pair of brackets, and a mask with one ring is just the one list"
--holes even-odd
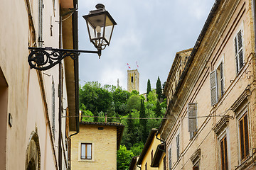
[(256, 169), (255, 61), (255, 1), (216, 0), (166, 82), (167, 169)]

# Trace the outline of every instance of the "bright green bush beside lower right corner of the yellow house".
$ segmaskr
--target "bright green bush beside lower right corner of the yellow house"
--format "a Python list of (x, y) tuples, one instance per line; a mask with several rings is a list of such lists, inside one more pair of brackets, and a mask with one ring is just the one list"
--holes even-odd
[(131, 161), (132, 157), (134, 157), (132, 151), (127, 150), (124, 145), (120, 145), (120, 148), (117, 151), (117, 169), (129, 169), (129, 162)]

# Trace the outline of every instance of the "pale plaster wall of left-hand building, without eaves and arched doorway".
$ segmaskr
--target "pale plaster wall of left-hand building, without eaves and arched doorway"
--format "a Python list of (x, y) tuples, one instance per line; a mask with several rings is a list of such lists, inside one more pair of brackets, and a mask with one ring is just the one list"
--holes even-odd
[[(38, 1), (31, 0), (29, 4), (37, 40)], [(37, 132), (39, 137), (41, 169), (55, 169), (55, 155), (49, 131), (52, 122), (48, 123), (47, 115), (52, 120), (51, 113), (55, 109), (57, 129), (58, 66), (42, 72), (43, 88), (46, 92), (43, 94), (39, 74), (35, 69), (29, 68), (27, 60), (28, 43), (36, 45), (38, 42), (29, 42), (26, 1), (1, 1), (1, 6), (0, 67), (9, 85), (7, 113), (11, 113), (13, 125), (9, 126), (6, 119), (6, 164), (1, 164), (0, 169), (26, 169), (26, 149), (32, 132)], [(59, 1), (43, 1), (43, 45), (46, 47), (59, 47), (59, 11)], [(55, 108), (52, 108), (52, 79), (55, 81)], [(65, 97), (67, 98), (66, 93)], [(54, 145), (57, 145), (58, 131), (53, 133)], [(55, 153), (58, 152), (55, 146), (54, 150)]]

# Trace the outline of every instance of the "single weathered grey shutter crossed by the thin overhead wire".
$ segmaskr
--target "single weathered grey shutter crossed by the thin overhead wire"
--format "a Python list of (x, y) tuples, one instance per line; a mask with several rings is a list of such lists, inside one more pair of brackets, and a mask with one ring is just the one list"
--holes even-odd
[(196, 103), (188, 103), (188, 132), (196, 132)]

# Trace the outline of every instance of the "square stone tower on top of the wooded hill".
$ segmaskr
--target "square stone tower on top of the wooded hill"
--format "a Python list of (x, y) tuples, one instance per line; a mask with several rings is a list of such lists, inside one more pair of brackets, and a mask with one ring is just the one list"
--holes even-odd
[(127, 91), (139, 91), (139, 72), (138, 69), (127, 70)]

